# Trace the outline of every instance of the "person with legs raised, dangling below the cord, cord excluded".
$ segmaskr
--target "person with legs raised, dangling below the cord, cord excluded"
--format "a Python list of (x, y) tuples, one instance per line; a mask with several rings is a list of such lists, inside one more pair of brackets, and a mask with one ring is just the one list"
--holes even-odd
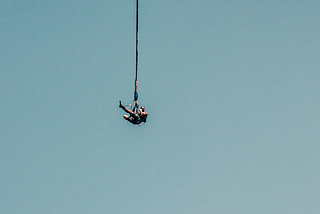
[(122, 108), (128, 115), (123, 115), (123, 118), (129, 121), (134, 125), (139, 125), (140, 123), (147, 122), (148, 113), (145, 111), (145, 107), (141, 106), (139, 109), (139, 103), (136, 102), (133, 110), (129, 110), (121, 104), (121, 100), (119, 101), (119, 108)]

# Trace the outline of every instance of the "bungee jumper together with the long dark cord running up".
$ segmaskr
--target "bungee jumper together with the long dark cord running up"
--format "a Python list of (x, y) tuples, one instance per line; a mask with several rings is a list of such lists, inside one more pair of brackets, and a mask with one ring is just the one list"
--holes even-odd
[(126, 106), (134, 106), (132, 110), (129, 110), (124, 105), (122, 105), (121, 100), (119, 101), (119, 108), (122, 108), (125, 112), (130, 115), (123, 115), (123, 118), (134, 125), (139, 125), (141, 123), (147, 122), (148, 113), (145, 111), (145, 107), (141, 106), (139, 109), (138, 103), (138, 0), (137, 0), (137, 12), (136, 12), (136, 79), (135, 79), (135, 90), (133, 94), (132, 104)]

